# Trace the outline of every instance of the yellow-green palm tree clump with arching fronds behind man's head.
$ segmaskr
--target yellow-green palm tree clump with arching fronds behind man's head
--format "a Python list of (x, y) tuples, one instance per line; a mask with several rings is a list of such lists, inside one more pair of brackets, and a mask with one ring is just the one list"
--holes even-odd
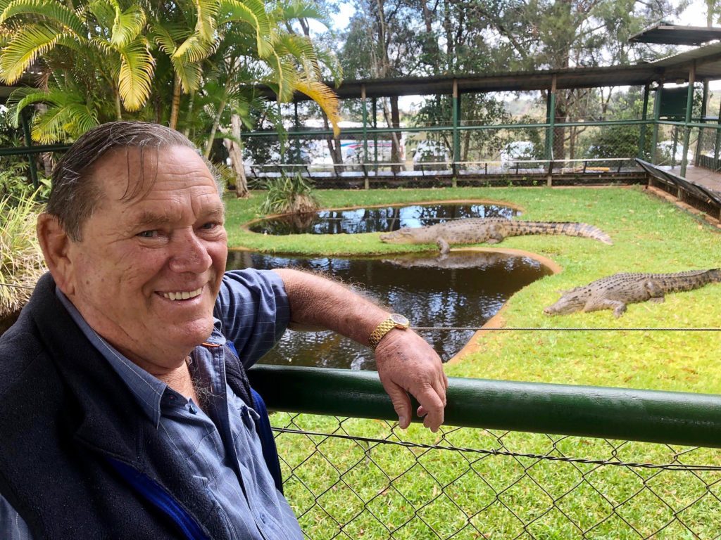
[(208, 153), (224, 114), (252, 99), (247, 86), (257, 83), (280, 102), (304, 92), (337, 124), (337, 98), (319, 82), (319, 59), (331, 57), (286, 30), (293, 17), (324, 19), (309, 0), (64, 2), (0, 0), (0, 80), (13, 84), (35, 64), (44, 74), (40, 89), (20, 89), (9, 100), (16, 117), (30, 104), (47, 106), (33, 121), (37, 141), (76, 138), (121, 118), (179, 127), (184, 104), (193, 120), (196, 96), (215, 96)]

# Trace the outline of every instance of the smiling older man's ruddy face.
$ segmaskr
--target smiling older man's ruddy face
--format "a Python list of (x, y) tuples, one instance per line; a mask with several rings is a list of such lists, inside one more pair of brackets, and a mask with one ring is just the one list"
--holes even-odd
[(116, 150), (96, 166), (104, 192), (82, 240), (69, 243), (68, 288), (97, 333), (158, 372), (211, 333), (226, 231), (213, 176), (193, 150), (146, 150), (142, 177), (140, 156)]

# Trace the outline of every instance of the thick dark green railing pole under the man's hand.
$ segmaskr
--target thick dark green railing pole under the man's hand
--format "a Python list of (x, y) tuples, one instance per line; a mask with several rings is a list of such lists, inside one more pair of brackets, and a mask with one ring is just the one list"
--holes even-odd
[[(255, 366), (248, 374), (270, 410), (398, 418), (376, 372)], [(461, 377), (448, 382), (448, 426), (721, 447), (719, 395)]]

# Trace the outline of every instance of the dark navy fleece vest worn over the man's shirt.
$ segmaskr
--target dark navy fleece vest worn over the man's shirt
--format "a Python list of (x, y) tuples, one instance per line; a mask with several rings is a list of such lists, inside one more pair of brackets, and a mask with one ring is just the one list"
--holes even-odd
[[(252, 403), (242, 365), (228, 372)], [(218, 505), (70, 318), (50, 274), (0, 338), (0, 403), (0, 493), (35, 540), (187, 538), (174, 509), (190, 533), (227, 537)]]

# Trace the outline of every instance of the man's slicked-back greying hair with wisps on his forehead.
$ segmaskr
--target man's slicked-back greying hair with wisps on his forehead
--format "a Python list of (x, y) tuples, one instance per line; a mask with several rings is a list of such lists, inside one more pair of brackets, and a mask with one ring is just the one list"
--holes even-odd
[[(103, 186), (92, 178), (94, 165), (111, 150), (138, 148), (142, 166), (146, 148), (159, 150), (170, 146), (186, 146), (195, 150), (211, 171), (218, 186), (218, 195), (222, 197), (223, 187), (217, 169), (182, 133), (147, 122), (108, 122), (81, 135), (58, 161), (53, 170), (52, 188), (45, 212), (58, 219), (71, 240), (80, 241), (82, 227), (92, 217), (104, 192)], [(143, 182), (138, 182), (133, 190), (128, 185), (123, 198), (135, 197), (141, 184)]]

